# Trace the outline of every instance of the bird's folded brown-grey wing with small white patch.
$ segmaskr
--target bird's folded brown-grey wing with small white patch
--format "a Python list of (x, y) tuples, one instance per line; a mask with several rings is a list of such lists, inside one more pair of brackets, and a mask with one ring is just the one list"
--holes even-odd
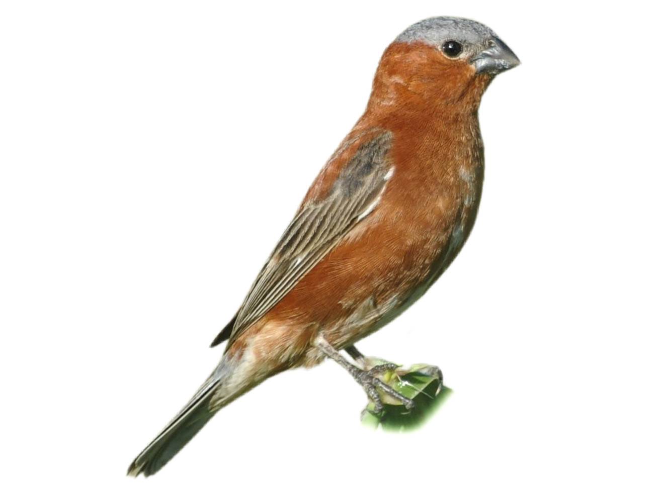
[(387, 157), (390, 148), (389, 132), (365, 141), (343, 166), (329, 193), (302, 205), (251, 286), (234, 322), (212, 345), (228, 337), (230, 346), (375, 209), (393, 172)]

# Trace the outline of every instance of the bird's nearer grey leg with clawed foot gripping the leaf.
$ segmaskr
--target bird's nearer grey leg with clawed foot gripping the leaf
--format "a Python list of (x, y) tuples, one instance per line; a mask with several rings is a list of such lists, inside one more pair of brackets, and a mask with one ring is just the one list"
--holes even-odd
[[(412, 409), (414, 407), (414, 402), (412, 400), (408, 399), (406, 396), (403, 396), (396, 392), (391, 386), (387, 385), (385, 382), (380, 380), (380, 378), (377, 378), (377, 374), (381, 374), (385, 371), (392, 371), (398, 366), (396, 364), (392, 364), (391, 362), (388, 362), (387, 364), (379, 364), (377, 366), (374, 366), (373, 368), (369, 370), (363, 370), (362, 368), (359, 368), (355, 366), (355, 364), (352, 364), (349, 362), (349, 360), (345, 359), (336, 349), (331, 347), (331, 345), (326, 341), (322, 336), (319, 336), (316, 339), (315, 342), (316, 347), (324, 353), (327, 357), (330, 359), (335, 360), (338, 362), (338, 364), (341, 364), (347, 372), (349, 372), (353, 378), (361, 385), (363, 386), (366, 394), (369, 396), (369, 398), (373, 401), (373, 404), (375, 405), (375, 412), (379, 413), (383, 410), (384, 406), (382, 403), (382, 400), (380, 399), (380, 394), (378, 393), (378, 389), (382, 390), (385, 392), (385, 394), (389, 395), (390, 397), (393, 397), (394, 399), (398, 400), (398, 402), (402, 403), (403, 406), (405, 406), (407, 409)], [(352, 349), (352, 351), (348, 351), (350, 355), (353, 355), (354, 353), (357, 353), (359, 356), (363, 357), (355, 347), (348, 347), (349, 349)], [(347, 351), (347, 349), (345, 349)]]

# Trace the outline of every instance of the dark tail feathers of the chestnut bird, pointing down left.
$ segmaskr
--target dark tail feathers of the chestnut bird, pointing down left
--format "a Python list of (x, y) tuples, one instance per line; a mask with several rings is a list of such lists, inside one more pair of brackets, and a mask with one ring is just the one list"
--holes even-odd
[(150, 476), (164, 467), (216, 414), (217, 410), (210, 410), (210, 399), (217, 386), (219, 379), (210, 377), (184, 409), (131, 463), (127, 474)]

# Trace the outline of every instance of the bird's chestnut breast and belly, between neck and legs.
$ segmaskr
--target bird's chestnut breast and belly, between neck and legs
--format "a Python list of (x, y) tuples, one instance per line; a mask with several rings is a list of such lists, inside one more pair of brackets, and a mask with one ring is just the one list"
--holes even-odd
[[(394, 319), (442, 274), (469, 235), (483, 180), (476, 113), (453, 119), (451, 126), (445, 121), (418, 116), (414, 133), (406, 116), (389, 119), (389, 125), (369, 119), (357, 124), (350, 137), (385, 128), (391, 133), (392, 178), (371, 215), (298, 282), (269, 319), (306, 330), (304, 341), (325, 330), (328, 341), (342, 347)], [(314, 188), (324, 185), (318, 181)]]

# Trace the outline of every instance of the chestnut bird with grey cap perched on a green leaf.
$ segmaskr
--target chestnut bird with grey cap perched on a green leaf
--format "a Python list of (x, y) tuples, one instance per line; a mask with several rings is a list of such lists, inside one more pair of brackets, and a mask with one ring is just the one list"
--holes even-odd
[[(412, 408), (355, 343), (405, 311), (448, 268), (475, 223), (484, 176), (478, 109), (520, 61), (491, 28), (458, 17), (411, 25), (387, 46), (367, 107), (339, 144), (243, 303), (207, 380), (131, 463), (150, 476), (223, 406), (290, 368), (332, 359), (381, 410)], [(345, 359), (347, 351), (351, 360)]]

